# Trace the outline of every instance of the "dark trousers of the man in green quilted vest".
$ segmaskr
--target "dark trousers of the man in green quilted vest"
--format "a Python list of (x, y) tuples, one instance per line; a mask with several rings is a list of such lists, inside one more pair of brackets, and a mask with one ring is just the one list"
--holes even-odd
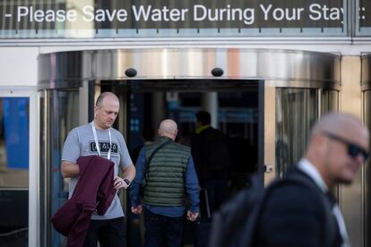
[(144, 209), (144, 246), (183, 246), (184, 217), (166, 217)]

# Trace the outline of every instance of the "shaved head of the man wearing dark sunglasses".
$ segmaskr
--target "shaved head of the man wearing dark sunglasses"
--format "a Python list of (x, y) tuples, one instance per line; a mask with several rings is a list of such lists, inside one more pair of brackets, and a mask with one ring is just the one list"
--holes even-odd
[(367, 128), (355, 115), (332, 112), (312, 129), (306, 158), (317, 168), (328, 187), (351, 183), (366, 161)]

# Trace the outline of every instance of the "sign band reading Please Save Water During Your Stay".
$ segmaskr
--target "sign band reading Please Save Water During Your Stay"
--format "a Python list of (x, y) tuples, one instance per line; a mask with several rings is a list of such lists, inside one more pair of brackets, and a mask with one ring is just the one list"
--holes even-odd
[(340, 29), (343, 0), (2, 1), (1, 30)]

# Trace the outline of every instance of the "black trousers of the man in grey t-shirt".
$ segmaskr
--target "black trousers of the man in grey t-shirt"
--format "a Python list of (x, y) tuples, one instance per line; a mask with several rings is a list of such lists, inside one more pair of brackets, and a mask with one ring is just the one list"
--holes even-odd
[(125, 218), (116, 217), (104, 220), (91, 220), (84, 247), (126, 247)]

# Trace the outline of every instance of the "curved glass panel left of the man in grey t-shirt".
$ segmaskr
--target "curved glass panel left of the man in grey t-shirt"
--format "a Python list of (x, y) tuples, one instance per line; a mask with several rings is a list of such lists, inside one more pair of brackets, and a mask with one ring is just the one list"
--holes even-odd
[[(68, 180), (60, 173), (61, 155), (65, 138), (73, 127), (79, 124), (79, 91), (48, 91), (44, 107), (47, 126), (44, 127), (44, 141), (41, 149), (46, 152), (46, 160), (41, 164), (46, 175), (41, 188), (46, 188), (42, 194), (45, 195), (42, 203), (47, 209), (45, 219), (46, 246), (65, 246), (65, 237), (58, 234), (50, 224), (50, 217), (59, 209), (68, 198)], [(47, 143), (47, 145), (46, 145)], [(42, 154), (43, 155), (43, 154)], [(48, 198), (50, 197), (50, 198)]]

